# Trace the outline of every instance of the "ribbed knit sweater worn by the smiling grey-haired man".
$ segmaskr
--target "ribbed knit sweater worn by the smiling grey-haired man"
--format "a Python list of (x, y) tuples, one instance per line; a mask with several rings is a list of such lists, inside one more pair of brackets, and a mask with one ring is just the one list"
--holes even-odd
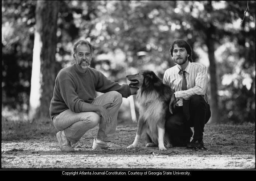
[(92, 103), (96, 91), (117, 91), (124, 98), (131, 95), (127, 84), (119, 85), (117, 82), (106, 78), (101, 72), (87, 68), (85, 73), (78, 71), (76, 64), (63, 68), (58, 73), (50, 102), (50, 117), (70, 109), (73, 112), (82, 112), (84, 103)]

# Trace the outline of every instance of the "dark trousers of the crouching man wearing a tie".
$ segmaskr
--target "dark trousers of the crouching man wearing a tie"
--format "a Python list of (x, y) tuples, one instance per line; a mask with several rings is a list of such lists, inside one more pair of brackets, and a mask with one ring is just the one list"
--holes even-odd
[(174, 146), (186, 145), (190, 141), (193, 135), (190, 127), (194, 127), (193, 139), (202, 139), (204, 125), (211, 117), (210, 105), (202, 96), (192, 95), (187, 105), (189, 110), (183, 110), (185, 107), (176, 107), (173, 115), (169, 116), (165, 123), (165, 132)]

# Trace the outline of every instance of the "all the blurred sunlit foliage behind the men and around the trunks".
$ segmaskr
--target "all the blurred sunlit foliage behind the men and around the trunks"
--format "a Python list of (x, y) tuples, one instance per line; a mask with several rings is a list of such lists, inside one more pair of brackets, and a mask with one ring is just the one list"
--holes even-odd
[[(212, 26), (220, 120), (253, 122), (255, 1), (249, 1), (242, 25), (247, 1), (212, 1), (211, 9), (207, 3), (61, 1), (56, 74), (73, 63), (79, 39), (94, 45), (91, 66), (120, 83), (141, 69), (162, 78), (174, 65), (168, 49), (177, 38), (191, 44), (195, 62), (207, 65), (206, 29)], [(2, 1), (2, 104), (18, 111), (28, 111), (35, 8), (35, 1)]]

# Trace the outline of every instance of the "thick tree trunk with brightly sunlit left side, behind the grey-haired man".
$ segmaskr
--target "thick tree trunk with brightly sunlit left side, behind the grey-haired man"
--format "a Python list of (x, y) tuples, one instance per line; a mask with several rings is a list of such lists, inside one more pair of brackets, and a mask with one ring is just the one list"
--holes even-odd
[(29, 120), (49, 117), (55, 79), (59, 1), (37, 1)]

